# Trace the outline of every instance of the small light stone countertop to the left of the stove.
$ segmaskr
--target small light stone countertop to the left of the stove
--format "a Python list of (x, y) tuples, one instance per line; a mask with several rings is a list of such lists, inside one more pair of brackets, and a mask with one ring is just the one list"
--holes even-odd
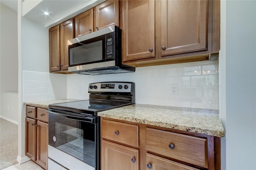
[(57, 100), (47, 100), (47, 101), (24, 102), (24, 104), (26, 104), (26, 105), (33, 105), (35, 107), (49, 108), (50, 104), (65, 103), (65, 102), (70, 102), (70, 101), (80, 101), (80, 100), (78, 100), (78, 99), (57, 99)]

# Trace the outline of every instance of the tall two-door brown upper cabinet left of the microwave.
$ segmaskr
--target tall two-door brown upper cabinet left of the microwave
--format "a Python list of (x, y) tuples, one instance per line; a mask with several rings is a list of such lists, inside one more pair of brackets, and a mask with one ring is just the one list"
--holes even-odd
[(72, 38), (73, 18), (49, 29), (50, 73), (68, 73), (68, 40)]

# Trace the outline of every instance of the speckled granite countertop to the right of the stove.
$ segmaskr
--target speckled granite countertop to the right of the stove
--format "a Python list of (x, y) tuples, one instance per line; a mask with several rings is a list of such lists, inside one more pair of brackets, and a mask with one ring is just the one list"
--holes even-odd
[(224, 137), (218, 111), (134, 104), (98, 112), (98, 116)]

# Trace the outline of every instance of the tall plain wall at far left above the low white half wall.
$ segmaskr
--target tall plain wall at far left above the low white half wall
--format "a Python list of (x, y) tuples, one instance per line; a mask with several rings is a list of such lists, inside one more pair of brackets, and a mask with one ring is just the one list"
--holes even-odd
[(18, 18), (17, 12), (1, 3), (1, 92), (18, 92)]

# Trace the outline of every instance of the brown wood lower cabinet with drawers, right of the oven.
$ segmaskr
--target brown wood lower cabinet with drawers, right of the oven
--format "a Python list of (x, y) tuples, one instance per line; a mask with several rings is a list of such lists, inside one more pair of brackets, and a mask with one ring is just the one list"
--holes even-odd
[(206, 134), (101, 117), (101, 144), (104, 170), (220, 170), (220, 138)]

